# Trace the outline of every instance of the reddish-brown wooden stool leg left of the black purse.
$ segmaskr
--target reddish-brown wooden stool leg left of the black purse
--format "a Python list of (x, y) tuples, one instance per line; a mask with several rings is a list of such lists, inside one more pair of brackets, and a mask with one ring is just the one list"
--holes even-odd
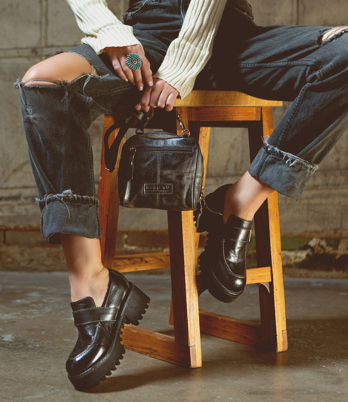
[[(115, 117), (112, 115), (104, 116), (104, 129), (103, 137), (106, 130), (115, 123)], [(109, 146), (116, 137), (118, 129), (114, 135), (109, 137)], [(102, 232), (102, 240), (100, 240), (100, 247), (102, 249), (102, 263), (104, 267), (112, 268), (114, 266), (115, 248), (116, 248), (116, 235), (118, 224), (118, 210), (120, 206), (120, 199), (117, 190), (117, 171), (120, 158), (120, 152), (126, 138), (124, 137), (120, 144), (118, 151), (118, 160), (115, 170), (110, 173), (105, 169), (104, 163), (104, 141), (102, 142), (102, 158), (100, 163), (100, 180), (98, 186), (98, 199), (99, 199), (99, 220), (100, 229)]]

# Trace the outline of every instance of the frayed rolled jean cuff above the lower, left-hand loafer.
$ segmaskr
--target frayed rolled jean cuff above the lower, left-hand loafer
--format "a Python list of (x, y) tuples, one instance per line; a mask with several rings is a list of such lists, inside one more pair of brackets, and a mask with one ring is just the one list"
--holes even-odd
[(61, 234), (102, 240), (98, 198), (64, 190), (35, 200), (41, 210), (41, 235), (47, 243), (61, 244)]

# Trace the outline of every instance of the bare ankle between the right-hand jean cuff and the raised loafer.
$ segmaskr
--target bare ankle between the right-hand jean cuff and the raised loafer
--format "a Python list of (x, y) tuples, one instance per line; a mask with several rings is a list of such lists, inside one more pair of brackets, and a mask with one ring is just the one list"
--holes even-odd
[(226, 192), (224, 205), (224, 224), (230, 215), (251, 221), (273, 189), (263, 184), (247, 171)]

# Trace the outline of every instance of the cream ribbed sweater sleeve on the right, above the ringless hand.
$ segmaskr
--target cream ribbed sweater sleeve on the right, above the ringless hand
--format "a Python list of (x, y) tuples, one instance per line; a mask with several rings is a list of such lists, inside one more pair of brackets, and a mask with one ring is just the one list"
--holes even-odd
[(187, 96), (212, 55), (213, 42), (227, 0), (191, 0), (179, 36), (154, 75)]

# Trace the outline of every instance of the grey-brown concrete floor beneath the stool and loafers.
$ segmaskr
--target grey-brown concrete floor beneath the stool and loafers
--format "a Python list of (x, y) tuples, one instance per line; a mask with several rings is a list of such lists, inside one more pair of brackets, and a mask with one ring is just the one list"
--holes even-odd
[[(141, 326), (172, 333), (170, 279), (127, 275), (152, 301)], [(203, 366), (183, 369), (126, 351), (113, 374), (77, 392), (65, 361), (77, 329), (67, 274), (0, 272), (0, 401), (347, 401), (348, 280), (285, 279), (289, 349), (283, 353), (202, 334)], [(232, 304), (208, 292), (200, 308), (258, 320), (257, 285)]]

